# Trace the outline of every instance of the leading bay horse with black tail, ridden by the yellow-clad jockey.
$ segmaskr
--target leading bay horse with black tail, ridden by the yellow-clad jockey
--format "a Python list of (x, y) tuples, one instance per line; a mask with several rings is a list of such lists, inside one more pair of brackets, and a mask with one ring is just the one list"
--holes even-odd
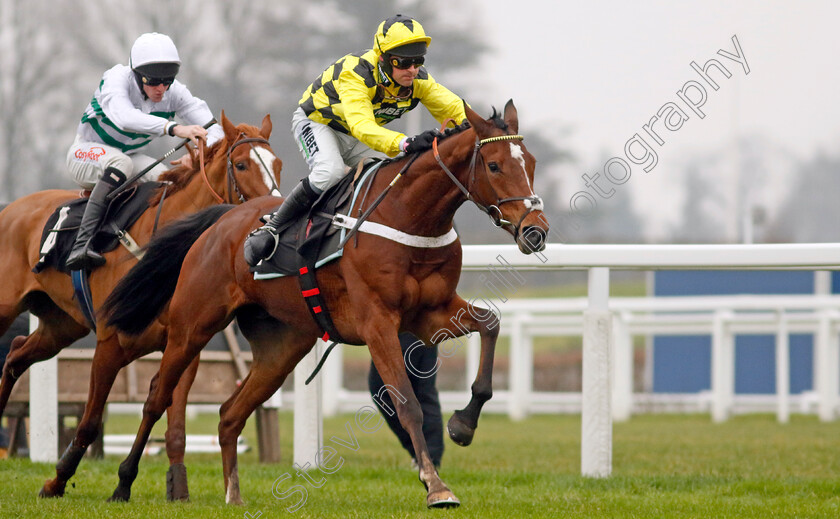
[[(469, 199), (514, 236), (521, 252), (544, 249), (548, 224), (542, 200), (532, 188), (536, 161), (517, 135), (513, 102), (505, 105), (503, 118), (494, 110), (484, 120), (465, 108), (469, 125), (447, 131), (451, 134), (435, 146), (434, 153), (429, 150), (413, 157), (413, 162), (402, 158), (380, 168), (368, 186), (370, 199), (389, 185), (392, 189), (371, 213), (370, 221), (428, 240), (452, 234), (455, 211)], [(404, 173), (401, 168), (406, 168)], [(355, 202), (353, 214), (364, 209), (362, 204)], [(236, 439), (248, 416), (280, 387), (323, 334), (296, 277), (255, 281), (243, 257), (248, 233), (260, 225), (260, 215), (276, 205), (272, 199), (257, 199), (221, 218), (198, 213), (173, 224), (151, 243), (147, 255), (106, 301), (101, 318), (127, 334), (141, 332), (169, 305), (164, 318), (169, 335), (160, 370), (152, 379), (137, 437), (120, 465), (119, 484), (111, 500), (130, 498), (149, 433), (169, 405), (182, 373), (210, 338), (236, 317), (254, 361), (248, 376), (220, 409), (219, 444), (226, 501), (242, 504)], [(202, 229), (207, 230), (195, 240)], [(492, 395), (498, 317), (456, 293), (462, 258), (457, 237), (448, 244), (424, 248), (371, 234), (356, 236), (356, 245), (348, 244), (338, 261), (317, 269), (322, 300), (342, 342), (368, 345), (418, 454), (427, 506), (457, 506), (458, 499), (429, 457), (422, 413), (406, 376), (397, 334), (410, 331), (427, 344), (467, 332), (481, 335), (472, 397), (448, 422), (450, 437), (468, 445), (481, 407)], [(191, 240), (195, 241), (192, 245)], [(453, 319), (458, 327), (451, 330)]]

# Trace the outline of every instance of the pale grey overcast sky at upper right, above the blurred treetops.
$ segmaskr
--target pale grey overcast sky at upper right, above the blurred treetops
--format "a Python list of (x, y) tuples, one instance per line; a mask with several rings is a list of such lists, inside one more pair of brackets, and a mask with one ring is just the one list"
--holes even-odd
[[(487, 78), (484, 102), (512, 97), (526, 137), (528, 128), (556, 127), (581, 174), (621, 156), (634, 134), (647, 137), (642, 126), (666, 103), (681, 105), (687, 81), (706, 86), (705, 117), (681, 105), (689, 119), (661, 132), (656, 168), (627, 182), (642, 211), (668, 205), (667, 173), (687, 156), (720, 153), (739, 135), (763, 135), (801, 159), (840, 147), (840, 2), (476, 0), (472, 13), (494, 42), (476, 73)], [(718, 54), (736, 52), (733, 35), (749, 74)], [(732, 75), (710, 73), (717, 91), (690, 66), (712, 58)], [(575, 175), (564, 196), (583, 187)]]

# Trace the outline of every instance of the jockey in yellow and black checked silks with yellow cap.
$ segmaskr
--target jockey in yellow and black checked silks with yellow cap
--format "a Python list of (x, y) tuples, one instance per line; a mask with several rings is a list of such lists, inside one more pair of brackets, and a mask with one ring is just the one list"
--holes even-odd
[(379, 24), (372, 49), (340, 58), (304, 91), (292, 116), (292, 133), (310, 173), (248, 238), (249, 264), (270, 255), (277, 229), (337, 184), (348, 167), (383, 154), (426, 150), (436, 134), (429, 130), (408, 137), (383, 125), (420, 103), (440, 123), (466, 119), (464, 101), (423, 66), (431, 40), (417, 20), (393, 16)]

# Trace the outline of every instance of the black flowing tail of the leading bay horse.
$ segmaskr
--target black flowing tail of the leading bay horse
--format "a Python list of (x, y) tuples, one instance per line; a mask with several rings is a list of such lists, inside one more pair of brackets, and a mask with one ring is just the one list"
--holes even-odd
[(139, 335), (160, 315), (175, 292), (190, 247), (232, 205), (214, 205), (163, 228), (100, 309), (101, 319), (130, 335)]

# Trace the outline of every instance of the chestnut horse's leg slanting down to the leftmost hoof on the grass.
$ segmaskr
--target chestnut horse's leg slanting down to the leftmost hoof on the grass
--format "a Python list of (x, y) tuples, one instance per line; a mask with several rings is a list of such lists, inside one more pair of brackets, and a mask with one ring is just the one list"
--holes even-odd
[(67, 481), (76, 473), (76, 468), (85, 455), (88, 446), (96, 440), (102, 430), (102, 414), (108, 394), (114, 385), (120, 369), (133, 358), (126, 355), (116, 335), (96, 345), (90, 372), (90, 388), (85, 413), (76, 427), (76, 436), (55, 466), (55, 478), (44, 483), (39, 497), (61, 497)]

